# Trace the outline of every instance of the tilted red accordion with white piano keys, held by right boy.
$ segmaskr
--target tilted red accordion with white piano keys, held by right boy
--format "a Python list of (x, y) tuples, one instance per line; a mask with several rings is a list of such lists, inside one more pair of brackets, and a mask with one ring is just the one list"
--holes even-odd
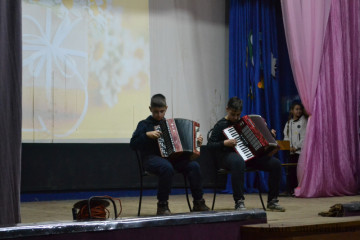
[(260, 115), (246, 115), (239, 123), (223, 130), (228, 139), (236, 139), (235, 151), (244, 159), (251, 160), (265, 154), (273, 155), (278, 144)]

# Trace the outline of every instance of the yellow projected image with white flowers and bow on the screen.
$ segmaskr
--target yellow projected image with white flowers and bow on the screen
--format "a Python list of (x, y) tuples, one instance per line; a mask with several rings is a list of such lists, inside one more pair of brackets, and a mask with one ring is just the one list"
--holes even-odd
[(23, 141), (121, 142), (147, 112), (142, 0), (23, 1)]

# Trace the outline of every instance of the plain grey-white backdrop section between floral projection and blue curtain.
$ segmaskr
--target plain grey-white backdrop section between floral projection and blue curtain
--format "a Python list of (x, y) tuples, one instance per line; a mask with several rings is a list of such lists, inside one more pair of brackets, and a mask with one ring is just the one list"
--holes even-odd
[(203, 135), (225, 116), (226, 2), (150, 1), (151, 92), (167, 96), (167, 117), (196, 120)]

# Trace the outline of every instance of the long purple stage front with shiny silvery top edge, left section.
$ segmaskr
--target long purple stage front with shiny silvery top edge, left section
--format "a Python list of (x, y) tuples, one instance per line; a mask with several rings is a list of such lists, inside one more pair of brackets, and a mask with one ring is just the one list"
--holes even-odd
[(0, 239), (239, 239), (240, 226), (266, 223), (262, 209), (191, 212), (113, 220), (18, 224), (0, 228)]

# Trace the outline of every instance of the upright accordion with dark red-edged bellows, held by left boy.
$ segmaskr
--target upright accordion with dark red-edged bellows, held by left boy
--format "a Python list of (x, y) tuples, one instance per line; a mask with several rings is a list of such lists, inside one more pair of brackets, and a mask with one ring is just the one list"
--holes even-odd
[(158, 143), (163, 158), (173, 160), (182, 156), (193, 160), (200, 156), (200, 146), (196, 141), (200, 135), (199, 123), (174, 118), (163, 120), (154, 128), (162, 133)]

